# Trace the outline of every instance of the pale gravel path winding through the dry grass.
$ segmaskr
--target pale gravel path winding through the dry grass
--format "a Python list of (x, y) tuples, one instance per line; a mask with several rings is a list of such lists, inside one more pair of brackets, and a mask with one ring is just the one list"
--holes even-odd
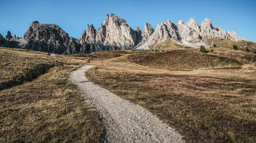
[(181, 135), (150, 112), (88, 81), (84, 72), (90, 67), (80, 67), (69, 78), (102, 115), (105, 143), (184, 143)]

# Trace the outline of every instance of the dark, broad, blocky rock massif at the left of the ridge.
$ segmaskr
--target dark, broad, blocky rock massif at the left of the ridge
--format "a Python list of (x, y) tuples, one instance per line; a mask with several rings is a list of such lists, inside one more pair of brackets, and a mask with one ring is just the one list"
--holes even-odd
[(65, 54), (70, 44), (70, 37), (59, 26), (34, 22), (23, 35), (22, 45), (25, 49), (47, 53)]

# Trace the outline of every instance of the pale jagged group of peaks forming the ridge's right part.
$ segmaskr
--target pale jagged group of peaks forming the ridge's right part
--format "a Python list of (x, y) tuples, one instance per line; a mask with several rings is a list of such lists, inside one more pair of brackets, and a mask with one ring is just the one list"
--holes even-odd
[[(145, 31), (145, 30), (144, 30)], [(144, 33), (143, 31), (143, 33)], [(213, 28), (212, 21), (206, 18), (200, 26), (193, 18), (190, 18), (186, 24), (180, 20), (176, 25), (170, 20), (157, 25), (157, 29), (149, 37), (143, 36), (142, 44), (137, 49), (149, 49), (152, 45), (156, 45), (159, 42), (164, 42), (166, 39), (174, 39), (177, 43), (186, 43), (192, 47), (198, 47), (198, 45), (206, 45), (201, 40), (206, 38), (220, 37), (221, 39), (230, 39), (234, 41), (247, 40), (240, 38), (235, 32), (226, 32), (225, 30), (215, 26)], [(248, 40), (247, 40), (248, 41)]]

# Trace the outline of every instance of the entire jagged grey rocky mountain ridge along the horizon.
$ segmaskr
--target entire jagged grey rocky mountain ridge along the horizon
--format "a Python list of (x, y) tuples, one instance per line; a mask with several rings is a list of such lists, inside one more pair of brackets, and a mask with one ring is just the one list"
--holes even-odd
[[(33, 22), (22, 38), (12, 37), (8, 31), (4, 38), (0, 35), (0, 46), (10, 48), (23, 48), (57, 54), (92, 53), (105, 50), (119, 49), (149, 49), (150, 46), (172, 39), (179, 44), (207, 45), (202, 39), (220, 37), (234, 41), (246, 40), (240, 38), (235, 32), (226, 32), (215, 26), (211, 20), (205, 19), (200, 26), (193, 18), (186, 24), (180, 20), (176, 25), (167, 20), (157, 24), (154, 28), (145, 23), (143, 31), (139, 27), (134, 30), (126, 21), (115, 14), (107, 14), (104, 22), (96, 30), (93, 25), (87, 25), (79, 39), (70, 37), (58, 25), (40, 24)], [(191, 46), (191, 45), (190, 45)]]

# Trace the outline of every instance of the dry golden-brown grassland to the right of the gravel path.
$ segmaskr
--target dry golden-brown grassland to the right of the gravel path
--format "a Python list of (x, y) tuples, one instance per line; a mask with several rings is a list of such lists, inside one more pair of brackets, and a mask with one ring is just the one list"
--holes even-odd
[(198, 50), (116, 58), (100, 52), (113, 58), (93, 58), (85, 74), (169, 123), (188, 143), (256, 142), (256, 54)]

